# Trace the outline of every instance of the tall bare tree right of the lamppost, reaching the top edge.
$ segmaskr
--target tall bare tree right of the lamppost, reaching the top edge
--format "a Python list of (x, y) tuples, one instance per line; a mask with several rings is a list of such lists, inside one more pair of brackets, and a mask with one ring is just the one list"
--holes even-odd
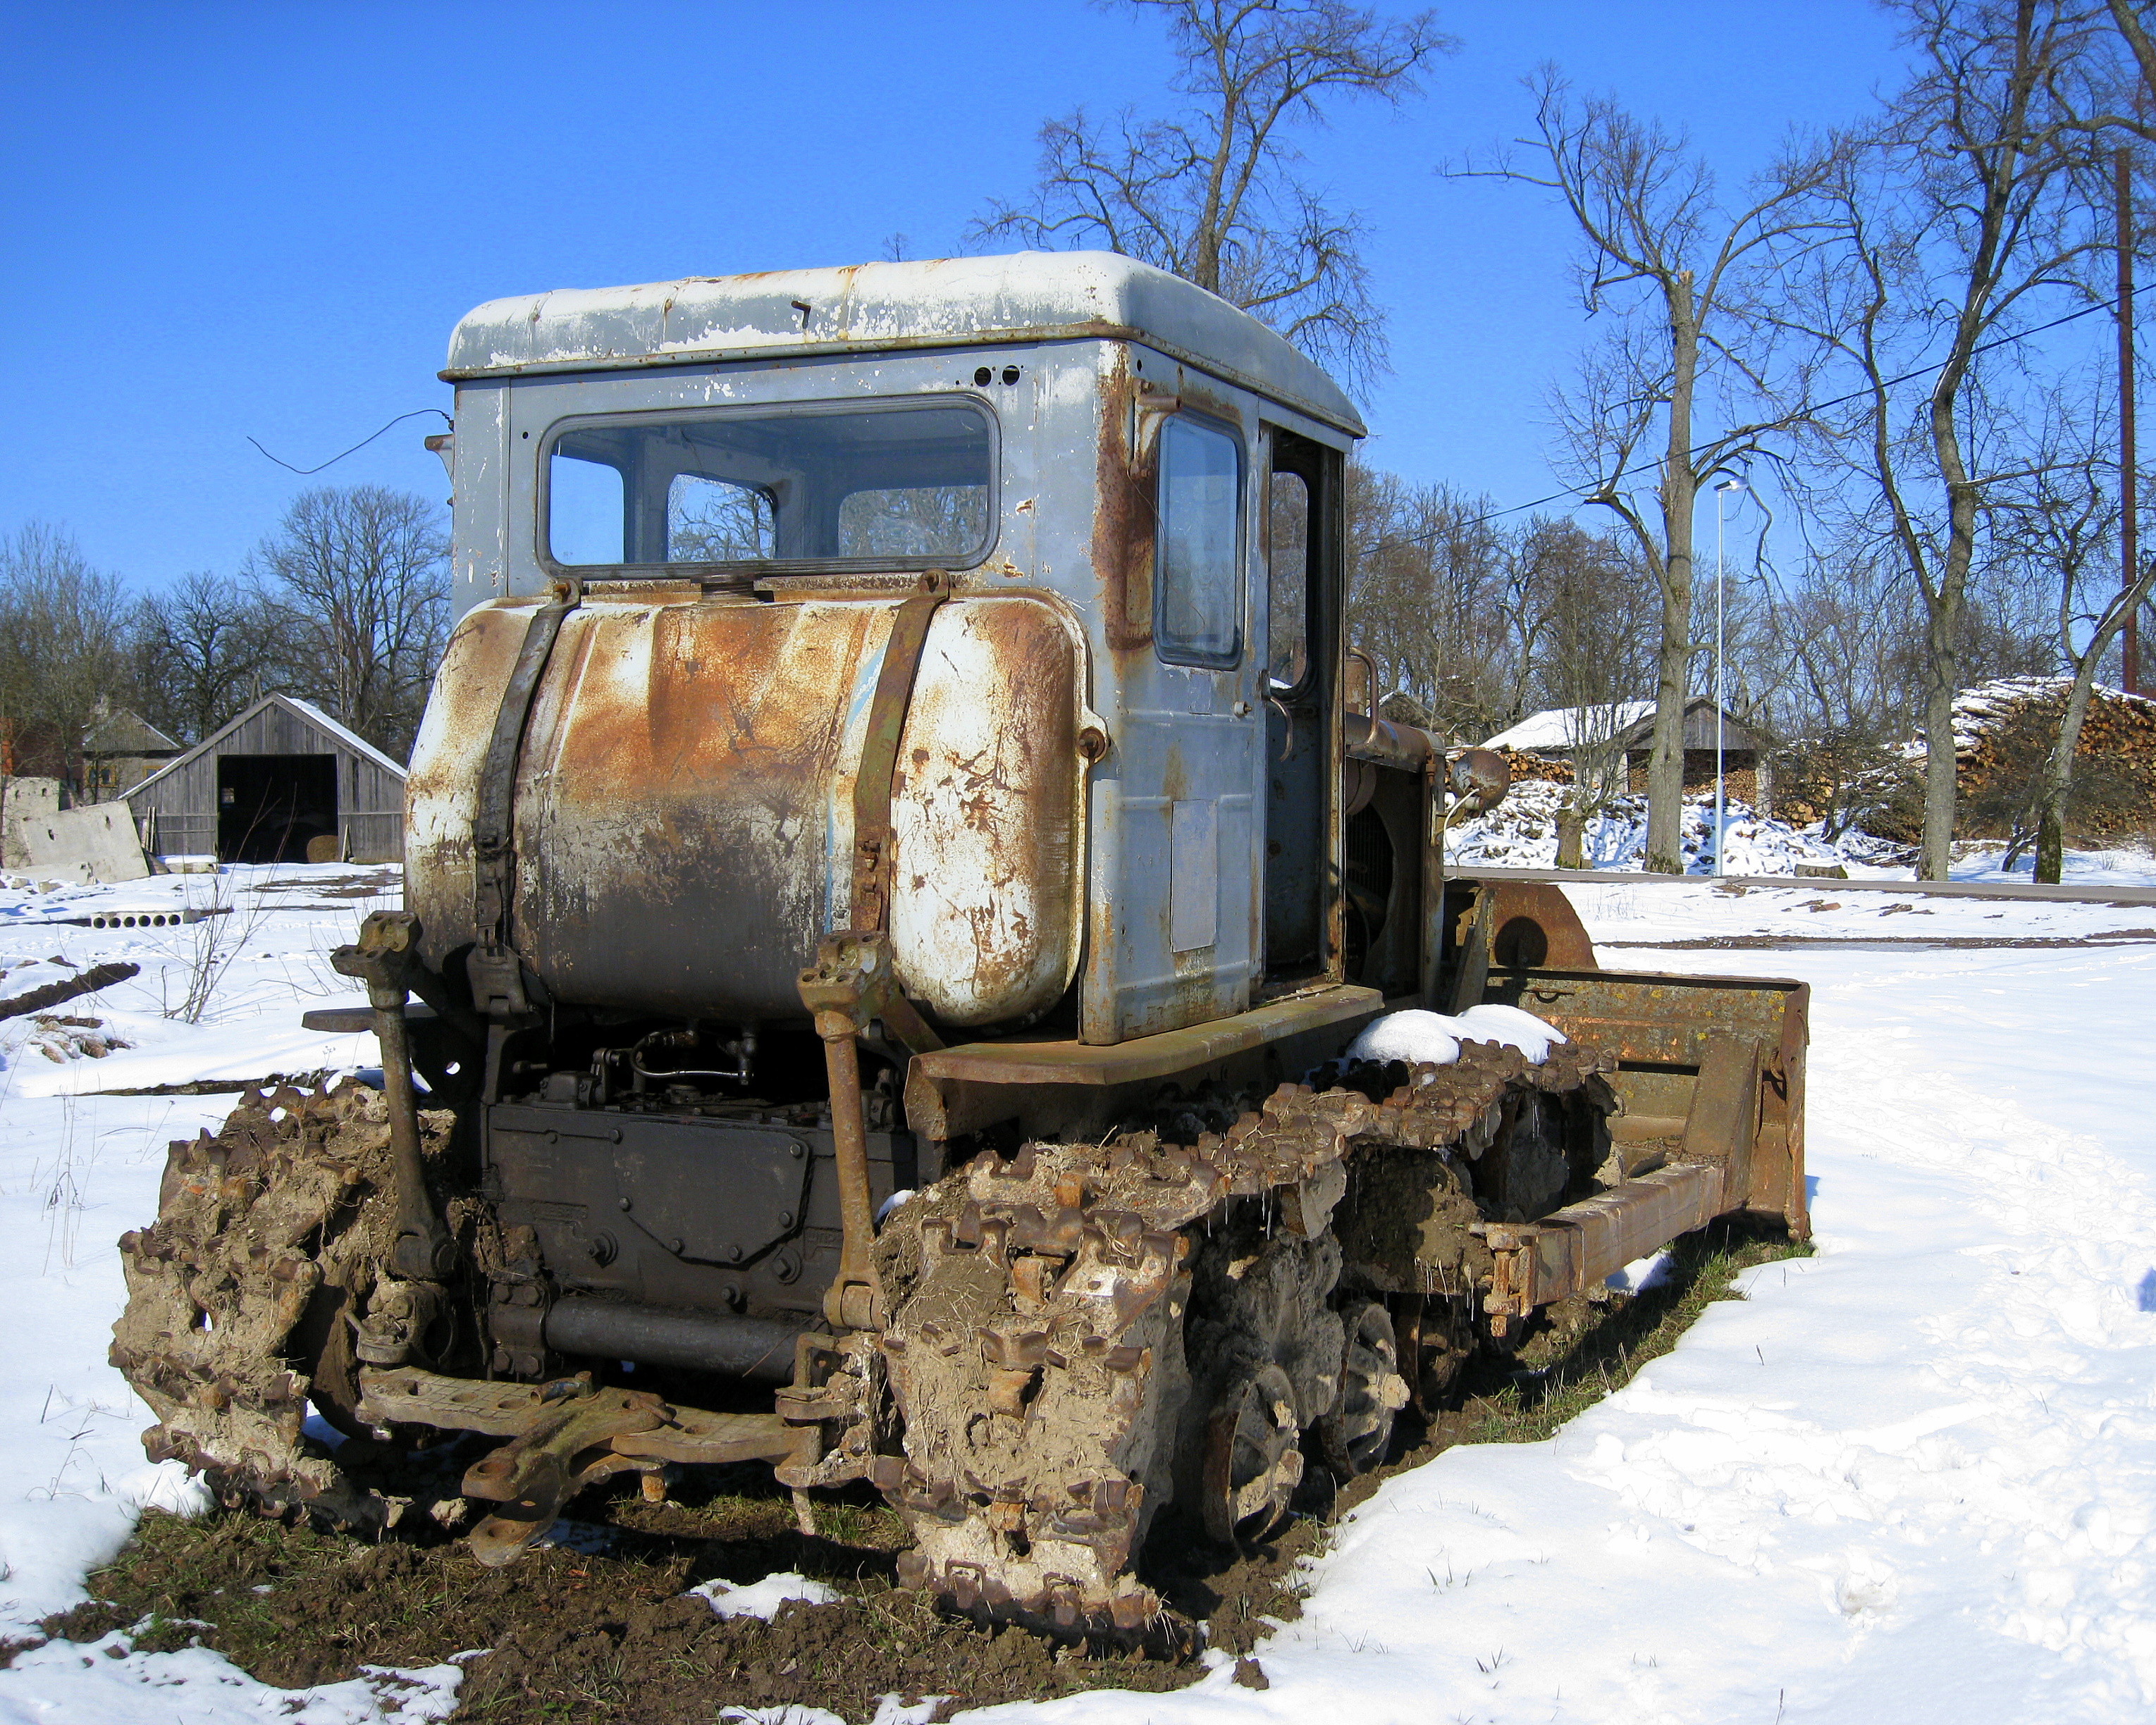
[(1899, 9), (1915, 78), (1822, 181), (1835, 246), (1811, 252), (1783, 315), (1854, 384), (1826, 446), (1869, 483), (1865, 518), (1923, 597), (1923, 873), (1945, 880), (1971, 571), (1999, 487), (2044, 461), (2009, 339), (2046, 300), (2085, 304), (2076, 274), (2100, 239), (2076, 196), (2091, 144), (2059, 95), (2087, 43), (2076, 9)]

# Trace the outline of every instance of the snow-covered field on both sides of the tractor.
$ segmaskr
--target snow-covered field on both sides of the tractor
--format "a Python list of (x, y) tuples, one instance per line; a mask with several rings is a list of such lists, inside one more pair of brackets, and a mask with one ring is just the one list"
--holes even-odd
[[(1259, 1650), (1268, 1690), (1222, 1665), (1179, 1695), (987, 1712), (2156, 1714), (2156, 906), (1835, 886), (1570, 888), (1611, 966), (1813, 983), (1818, 1257), (1749, 1272), (1744, 1302), (1712, 1307), (1554, 1440), (1391, 1479), (1313, 1565), (1302, 1619)], [(103, 1363), (112, 1242), (149, 1220), (164, 1143), (229, 1104), (110, 1091), (364, 1061), (367, 1039), (295, 1018), (354, 1000), (323, 953), (382, 891), (345, 867), (0, 891), (0, 996), (69, 975), (54, 957), (142, 966), (54, 1009), (97, 1026), (0, 1024), (0, 1634), (80, 1600), (144, 1499), (183, 1499), (142, 1466), (149, 1414)], [(188, 901), (231, 914), (56, 921)], [(1742, 944), (1664, 944), (1703, 940)], [(168, 1016), (205, 966), (222, 968), (203, 1022)], [(101, 1059), (78, 1052), (93, 1039)], [(446, 1714), (455, 1680), (287, 1693), (119, 1634), (17, 1656), (0, 1721), (420, 1721)]]

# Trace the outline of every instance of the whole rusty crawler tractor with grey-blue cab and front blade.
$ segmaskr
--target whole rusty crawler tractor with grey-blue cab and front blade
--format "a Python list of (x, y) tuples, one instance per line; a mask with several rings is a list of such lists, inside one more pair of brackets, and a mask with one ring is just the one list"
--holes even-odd
[[(487, 1434), (496, 1563), (765, 1460), (871, 1481), (957, 1609), (1132, 1632), (1162, 1507), (1257, 1537), (1542, 1305), (1802, 1229), (1802, 985), (1447, 878), (1503, 768), (1369, 714), (1363, 427), (1250, 317), (886, 263), (505, 300), (444, 375), (410, 908), (310, 1013), (382, 1087), (175, 1145), (114, 1339), (153, 1453), (364, 1518), (308, 1408)], [(1485, 1000), (1570, 1041), (1339, 1061)]]

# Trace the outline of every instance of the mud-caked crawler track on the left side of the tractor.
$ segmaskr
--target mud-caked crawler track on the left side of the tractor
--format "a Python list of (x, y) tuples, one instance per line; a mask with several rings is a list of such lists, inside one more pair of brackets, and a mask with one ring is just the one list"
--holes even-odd
[[(420, 1115), (429, 1160), (451, 1119)], [(151, 1460), (179, 1458), (267, 1509), (384, 1518), (302, 1427), (313, 1404), (364, 1430), (354, 1326), (397, 1294), (379, 1270), (395, 1238), (388, 1130), (382, 1093), (347, 1080), (248, 1095), (216, 1136), (172, 1143), (157, 1220), (119, 1242), (127, 1309), (112, 1333), (112, 1365), (157, 1414)]]

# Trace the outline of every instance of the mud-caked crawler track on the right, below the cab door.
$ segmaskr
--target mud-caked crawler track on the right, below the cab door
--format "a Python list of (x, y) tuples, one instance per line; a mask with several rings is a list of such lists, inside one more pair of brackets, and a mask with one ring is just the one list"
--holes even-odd
[[(983, 1154), (901, 1205), (880, 1240), (880, 1348), (906, 1453), (865, 1466), (914, 1535), (899, 1578), (981, 1617), (1130, 1634), (1160, 1613), (1132, 1565), (1164, 1503), (1255, 1537), (1300, 1481), (1302, 1432), (1335, 1466), (1382, 1460), (1410, 1397), (1386, 1294), (1470, 1289), (1477, 1218), (1529, 1190), (1561, 1201), (1548, 1121), (1600, 1117), (1604, 1067), (1574, 1046), (1529, 1063), (1466, 1044), (1455, 1065), (1283, 1085), (1190, 1143)], [(1401, 1171), (1421, 1203), (1386, 1253), (1350, 1192), (1369, 1182), (1399, 1210), (1384, 1175)], [(1343, 1201), (1350, 1244), (1386, 1259), (1345, 1279)]]

